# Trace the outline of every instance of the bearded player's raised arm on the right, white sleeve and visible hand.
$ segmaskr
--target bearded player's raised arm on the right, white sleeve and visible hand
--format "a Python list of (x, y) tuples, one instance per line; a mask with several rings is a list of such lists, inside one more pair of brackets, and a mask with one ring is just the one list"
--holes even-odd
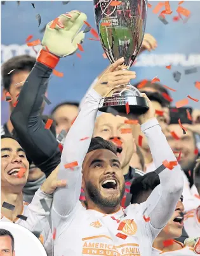
[[(145, 136), (147, 136), (154, 164), (158, 168), (163, 164), (164, 160), (177, 162), (159, 123), (156, 118), (152, 118), (155, 110), (152, 109), (152, 104), (148, 98), (147, 101), (149, 102), (150, 109), (149, 113), (146, 114), (146, 120), (142, 117), (141, 129)], [(153, 236), (157, 236), (157, 232), (163, 229), (164, 225), (170, 220), (183, 191), (183, 175), (178, 164), (172, 170), (164, 169), (163, 167), (163, 171), (158, 172), (158, 174), (160, 185), (152, 191), (145, 202), (147, 207), (145, 214), (150, 217)]]

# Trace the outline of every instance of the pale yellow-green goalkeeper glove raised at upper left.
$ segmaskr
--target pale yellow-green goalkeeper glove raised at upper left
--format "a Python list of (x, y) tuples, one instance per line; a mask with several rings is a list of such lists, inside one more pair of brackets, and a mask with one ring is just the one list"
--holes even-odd
[(43, 49), (58, 57), (65, 57), (76, 52), (77, 44), (84, 39), (83, 31), (79, 31), (86, 20), (87, 16), (84, 13), (70, 11), (70, 13), (60, 15), (56, 21), (49, 22), (44, 32)]

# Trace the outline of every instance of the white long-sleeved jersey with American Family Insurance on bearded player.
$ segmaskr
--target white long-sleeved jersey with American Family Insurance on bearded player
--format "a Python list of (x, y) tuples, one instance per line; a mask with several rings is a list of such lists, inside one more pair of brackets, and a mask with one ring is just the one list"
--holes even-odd
[[(95, 90), (90, 90), (65, 138), (57, 178), (67, 180), (67, 186), (55, 190), (51, 208), (53, 230), (56, 229), (55, 256), (150, 256), (154, 239), (170, 220), (182, 195), (182, 172), (178, 165), (172, 171), (164, 169), (159, 173), (161, 184), (147, 201), (130, 205), (124, 212), (121, 209), (103, 215), (86, 210), (79, 202), (79, 196), (82, 164), (90, 139), (81, 138), (92, 137), (101, 99)], [(176, 160), (156, 118), (142, 124), (141, 129), (147, 136), (156, 167), (164, 160)], [(75, 167), (66, 167), (68, 164), (74, 166), (74, 163), (77, 163)]]

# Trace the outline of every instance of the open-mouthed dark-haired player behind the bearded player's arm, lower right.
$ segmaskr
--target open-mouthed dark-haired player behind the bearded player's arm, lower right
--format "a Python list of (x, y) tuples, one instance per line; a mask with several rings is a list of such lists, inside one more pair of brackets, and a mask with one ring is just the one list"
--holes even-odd
[[(131, 203), (143, 203), (148, 199), (154, 188), (159, 185), (159, 176), (157, 173), (152, 172), (145, 174), (144, 176), (136, 178), (131, 184)], [(172, 255), (172, 256), (189, 256), (200, 254), (199, 238), (191, 239), (187, 238), (185, 244), (180, 243), (174, 239), (182, 236), (183, 230), (183, 196), (180, 197), (175, 211), (168, 221), (168, 224), (158, 234), (154, 240), (152, 248), (152, 256), (156, 255)], [(190, 243), (189, 243), (190, 241)], [(187, 246), (187, 244), (192, 245)], [(194, 248), (193, 248), (194, 247)], [(197, 253), (199, 252), (199, 253)]]

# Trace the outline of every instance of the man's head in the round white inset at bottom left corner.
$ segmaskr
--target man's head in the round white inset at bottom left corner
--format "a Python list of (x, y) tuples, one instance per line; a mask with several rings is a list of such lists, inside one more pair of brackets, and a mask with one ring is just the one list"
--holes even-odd
[(6, 229), (0, 229), (0, 256), (15, 256), (15, 241)]

